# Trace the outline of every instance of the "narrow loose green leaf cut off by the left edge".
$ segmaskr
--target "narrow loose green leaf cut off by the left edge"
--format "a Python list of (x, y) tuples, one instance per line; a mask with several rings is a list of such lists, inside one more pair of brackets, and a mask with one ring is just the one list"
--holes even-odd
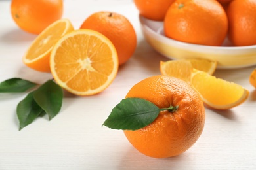
[(25, 92), (37, 84), (21, 78), (11, 78), (0, 83), (0, 93)]

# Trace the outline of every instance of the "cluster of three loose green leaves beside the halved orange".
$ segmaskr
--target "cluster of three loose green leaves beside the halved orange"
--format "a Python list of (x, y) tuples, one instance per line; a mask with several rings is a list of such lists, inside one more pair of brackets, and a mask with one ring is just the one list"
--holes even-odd
[[(11, 78), (0, 83), (0, 93), (26, 92), (37, 84), (21, 78)], [(63, 91), (53, 80), (48, 80), (28, 95), (17, 105), (16, 113), (20, 123), (19, 129), (31, 124), (33, 120), (47, 114), (49, 120), (54, 118), (62, 107)]]

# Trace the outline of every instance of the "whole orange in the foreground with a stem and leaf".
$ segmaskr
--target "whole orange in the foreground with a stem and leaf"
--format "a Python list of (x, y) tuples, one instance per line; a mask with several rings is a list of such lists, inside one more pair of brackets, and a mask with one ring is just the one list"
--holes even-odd
[(151, 76), (135, 84), (126, 97), (139, 97), (156, 106), (177, 107), (161, 111), (156, 120), (142, 129), (125, 130), (129, 142), (153, 158), (177, 156), (200, 137), (205, 123), (203, 101), (189, 84), (171, 76)]

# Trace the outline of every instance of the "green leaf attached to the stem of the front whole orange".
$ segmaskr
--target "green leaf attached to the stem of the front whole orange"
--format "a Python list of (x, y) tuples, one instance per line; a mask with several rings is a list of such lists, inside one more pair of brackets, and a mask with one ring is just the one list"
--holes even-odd
[(151, 124), (159, 112), (160, 109), (150, 101), (127, 98), (112, 109), (103, 125), (111, 129), (137, 130)]

